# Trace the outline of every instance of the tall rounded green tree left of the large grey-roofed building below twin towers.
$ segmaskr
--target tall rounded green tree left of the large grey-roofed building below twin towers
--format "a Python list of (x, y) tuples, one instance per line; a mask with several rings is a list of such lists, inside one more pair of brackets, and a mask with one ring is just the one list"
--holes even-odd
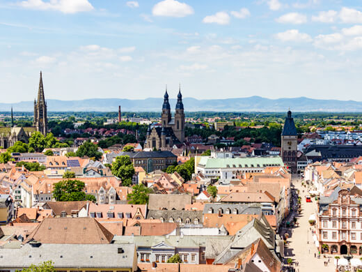
[(123, 186), (132, 184), (132, 176), (135, 172), (129, 156), (118, 156), (112, 163), (111, 171), (114, 176), (118, 176), (122, 180)]

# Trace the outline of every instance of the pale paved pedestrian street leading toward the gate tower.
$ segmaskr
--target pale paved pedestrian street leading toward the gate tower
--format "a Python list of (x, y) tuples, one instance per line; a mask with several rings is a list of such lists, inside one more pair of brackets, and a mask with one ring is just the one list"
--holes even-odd
[[(293, 227), (288, 229), (288, 245), (285, 246), (285, 264), (288, 258), (293, 260), (292, 266), (297, 272), (331, 272), (335, 271), (336, 266), (333, 264), (333, 259), (330, 258), (328, 266), (324, 266), (324, 262), (328, 261), (328, 258), (324, 258), (323, 255), (320, 259), (317, 259), (315, 255), (318, 255), (318, 249), (315, 246), (312, 237), (312, 229), (309, 225), (309, 217), (316, 211), (316, 202), (306, 202), (307, 188), (301, 186), (300, 179), (293, 179), (292, 183), (296, 189), (300, 191), (301, 197), (301, 213), (297, 213), (297, 221), (299, 227)], [(304, 190), (304, 192), (303, 192)], [(296, 262), (299, 262), (297, 266)], [(288, 264), (286, 264), (288, 266)]]

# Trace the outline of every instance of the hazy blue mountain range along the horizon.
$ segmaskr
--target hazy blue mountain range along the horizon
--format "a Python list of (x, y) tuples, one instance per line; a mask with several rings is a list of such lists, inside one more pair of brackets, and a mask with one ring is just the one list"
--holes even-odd
[[(306, 97), (269, 99), (260, 96), (248, 98), (202, 99), (184, 98), (187, 112), (285, 112), (288, 107), (293, 112), (362, 112), (362, 102), (342, 100), (320, 100)], [(119, 98), (93, 98), (85, 100), (47, 100), (49, 112), (117, 112), (118, 105), (123, 112), (160, 112), (163, 98), (129, 100)], [(171, 109), (175, 99), (170, 100)], [(0, 103), (0, 111), (33, 111), (33, 101), (19, 103)]]

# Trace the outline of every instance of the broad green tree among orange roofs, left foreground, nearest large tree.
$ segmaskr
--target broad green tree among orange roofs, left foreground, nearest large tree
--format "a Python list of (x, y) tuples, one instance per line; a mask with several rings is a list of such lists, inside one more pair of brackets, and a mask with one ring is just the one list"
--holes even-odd
[(53, 195), (56, 201), (96, 201), (94, 195), (86, 195), (83, 192), (84, 182), (74, 180), (65, 180), (54, 183)]

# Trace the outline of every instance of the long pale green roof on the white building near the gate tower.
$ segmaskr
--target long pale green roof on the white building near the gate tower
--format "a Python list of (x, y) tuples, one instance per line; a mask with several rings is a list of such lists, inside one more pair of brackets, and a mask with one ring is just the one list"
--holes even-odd
[(198, 165), (205, 168), (253, 168), (284, 166), (281, 157), (209, 158), (202, 157)]

